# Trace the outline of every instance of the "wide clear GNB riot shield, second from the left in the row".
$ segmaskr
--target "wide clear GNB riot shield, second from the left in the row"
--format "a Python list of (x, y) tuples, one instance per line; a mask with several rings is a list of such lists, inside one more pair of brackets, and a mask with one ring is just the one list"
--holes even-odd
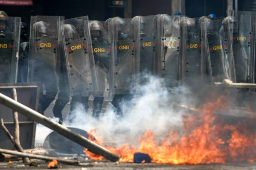
[(41, 82), (47, 92), (57, 93), (57, 59), (60, 54), (58, 23), (63, 19), (60, 16), (31, 17), (28, 82)]

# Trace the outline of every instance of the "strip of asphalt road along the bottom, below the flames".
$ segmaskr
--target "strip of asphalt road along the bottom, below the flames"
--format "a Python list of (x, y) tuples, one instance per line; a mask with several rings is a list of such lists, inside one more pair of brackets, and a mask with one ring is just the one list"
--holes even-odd
[[(48, 162), (35, 160), (38, 166), (29, 166), (21, 161), (14, 164), (0, 162), (0, 170), (45, 170)], [(198, 165), (171, 165), (154, 163), (117, 163), (94, 162), (87, 166), (59, 164), (61, 170), (255, 170), (256, 163), (226, 163), (226, 164), (198, 164)]]

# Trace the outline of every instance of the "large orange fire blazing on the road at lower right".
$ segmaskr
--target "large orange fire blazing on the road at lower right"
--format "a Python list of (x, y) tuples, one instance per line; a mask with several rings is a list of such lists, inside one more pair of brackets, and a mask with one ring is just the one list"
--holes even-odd
[[(105, 147), (119, 155), (120, 162), (133, 162), (136, 152), (147, 153), (151, 162), (155, 163), (253, 162), (256, 160), (256, 133), (251, 127), (254, 127), (255, 121), (244, 118), (236, 124), (224, 123), (216, 113), (227, 111), (228, 104), (228, 100), (221, 96), (205, 103), (191, 115), (183, 116), (183, 134), (171, 130), (168, 136), (156, 139), (155, 134), (148, 130), (140, 137), (138, 147), (132, 144), (117, 148)], [(91, 157), (92, 153), (86, 150), (84, 152), (90, 158), (96, 159), (95, 155)], [(100, 160), (102, 159), (101, 156)]]

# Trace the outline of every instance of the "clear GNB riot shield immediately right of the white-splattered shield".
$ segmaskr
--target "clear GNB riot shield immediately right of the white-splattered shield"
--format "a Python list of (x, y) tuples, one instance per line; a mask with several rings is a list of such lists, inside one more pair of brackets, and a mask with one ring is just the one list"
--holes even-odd
[(202, 45), (199, 18), (182, 17), (180, 42), (180, 79), (190, 84), (202, 77)]

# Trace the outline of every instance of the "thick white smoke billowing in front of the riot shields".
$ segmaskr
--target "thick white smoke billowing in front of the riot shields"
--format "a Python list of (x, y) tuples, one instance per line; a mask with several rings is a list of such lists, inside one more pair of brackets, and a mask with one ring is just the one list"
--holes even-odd
[(191, 91), (183, 86), (168, 88), (163, 79), (154, 76), (145, 75), (143, 79), (146, 82), (139, 86), (140, 94), (122, 103), (122, 117), (115, 113), (111, 104), (99, 120), (90, 115), (90, 109), (85, 113), (83, 107), (77, 105), (73, 123), (64, 122), (64, 125), (96, 130), (96, 139), (102, 138), (104, 144), (115, 146), (128, 142), (137, 144), (147, 130), (161, 136), (176, 127), (182, 129), (182, 112), (177, 105), (192, 103), (193, 100), (187, 97), (191, 96)]

